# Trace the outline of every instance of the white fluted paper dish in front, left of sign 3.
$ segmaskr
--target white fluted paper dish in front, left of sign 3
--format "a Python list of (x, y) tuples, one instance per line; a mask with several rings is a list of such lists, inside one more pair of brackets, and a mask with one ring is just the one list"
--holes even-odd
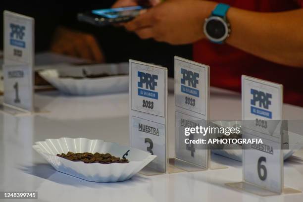
[[(45, 158), (54, 169), (92, 182), (119, 182), (128, 180), (156, 157), (156, 155), (152, 155), (149, 152), (132, 147), (86, 138), (47, 139), (35, 144), (33, 149)], [(99, 152), (110, 153), (121, 158), (128, 150), (130, 151), (126, 158), (129, 160), (129, 163), (84, 163), (56, 156), (58, 153), (67, 152)]]

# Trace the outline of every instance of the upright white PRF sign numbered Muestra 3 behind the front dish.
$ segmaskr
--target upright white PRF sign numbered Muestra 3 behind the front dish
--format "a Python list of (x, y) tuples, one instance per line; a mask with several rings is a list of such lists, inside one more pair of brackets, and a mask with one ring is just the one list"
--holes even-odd
[(150, 173), (164, 173), (167, 166), (167, 69), (130, 60), (129, 85), (130, 144), (157, 156), (147, 166), (153, 170)]

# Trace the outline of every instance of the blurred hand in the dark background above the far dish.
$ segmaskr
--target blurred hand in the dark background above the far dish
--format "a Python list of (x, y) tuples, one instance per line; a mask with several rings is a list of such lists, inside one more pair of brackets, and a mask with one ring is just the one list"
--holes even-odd
[(91, 34), (58, 27), (55, 31), (50, 50), (92, 62), (103, 63), (105, 58), (95, 37)]

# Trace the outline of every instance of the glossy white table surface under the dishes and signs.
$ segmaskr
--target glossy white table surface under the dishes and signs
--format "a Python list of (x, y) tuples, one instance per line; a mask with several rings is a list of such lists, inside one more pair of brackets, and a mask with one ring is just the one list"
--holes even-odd
[[(211, 89), (211, 119), (241, 119), (239, 94)], [(214, 155), (227, 169), (146, 177), (119, 183), (87, 182), (56, 172), (32, 149), (47, 138), (85, 137), (128, 145), (128, 94), (69, 97), (35, 95), (49, 113), (0, 113), (0, 191), (38, 191), (39, 202), (303, 202), (303, 194), (258, 197), (226, 187), (242, 181), (241, 162)], [(174, 155), (174, 98), (168, 99), (169, 155)], [(284, 106), (287, 119), (303, 120), (303, 108)], [(303, 152), (284, 165), (285, 186), (303, 191)], [(300, 157), (302, 156), (302, 157)], [(0, 200), (1, 201), (1, 200)], [(2, 200), (4, 201), (4, 200)], [(14, 200), (7, 200), (12, 202)], [(16, 200), (21, 201), (21, 200)]]

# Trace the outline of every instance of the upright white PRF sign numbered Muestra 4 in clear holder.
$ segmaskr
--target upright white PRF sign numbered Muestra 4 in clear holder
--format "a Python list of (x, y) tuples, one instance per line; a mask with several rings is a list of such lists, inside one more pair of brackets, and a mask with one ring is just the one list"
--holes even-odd
[[(194, 144), (185, 143), (186, 138), (206, 140), (208, 136), (191, 134), (186, 137), (184, 134), (186, 127), (207, 126), (208, 102), (209, 66), (175, 56), (175, 161), (181, 160), (208, 169), (207, 146), (202, 145), (198, 148)], [(182, 166), (182, 169), (197, 170), (190, 166)]]

